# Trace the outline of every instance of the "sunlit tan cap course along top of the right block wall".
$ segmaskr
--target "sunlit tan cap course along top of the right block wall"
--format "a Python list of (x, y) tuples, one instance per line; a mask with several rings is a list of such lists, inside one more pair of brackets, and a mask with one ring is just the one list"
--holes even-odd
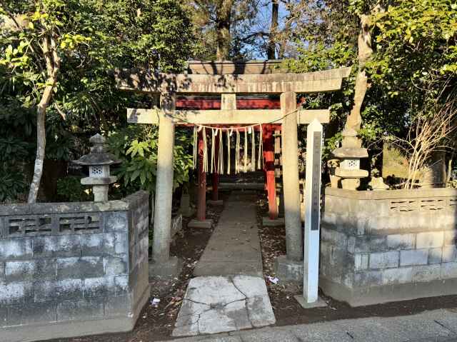
[(343, 188), (326, 188), (326, 196), (343, 198), (382, 200), (395, 198), (423, 198), (423, 197), (457, 197), (457, 188), (427, 188), (412, 190), (386, 190), (386, 191), (357, 191)]

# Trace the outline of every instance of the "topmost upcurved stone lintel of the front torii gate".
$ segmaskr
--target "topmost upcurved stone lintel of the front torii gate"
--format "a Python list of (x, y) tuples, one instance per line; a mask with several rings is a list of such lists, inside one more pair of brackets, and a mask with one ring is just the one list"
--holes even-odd
[(277, 69), (263, 62), (261, 65), (252, 63), (244, 66), (245, 74), (231, 74), (241, 71), (239, 65), (229, 62), (194, 63), (184, 74), (116, 69), (114, 76), (119, 89), (152, 94), (281, 94), (287, 91), (305, 94), (339, 90), (343, 78), (351, 72), (351, 68), (346, 67), (303, 74), (284, 73), (283, 69), (278, 69), (281, 72), (276, 73)]

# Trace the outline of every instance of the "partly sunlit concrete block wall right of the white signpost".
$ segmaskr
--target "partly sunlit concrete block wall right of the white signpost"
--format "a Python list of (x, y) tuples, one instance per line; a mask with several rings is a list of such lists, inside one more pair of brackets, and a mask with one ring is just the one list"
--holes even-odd
[(351, 306), (457, 294), (457, 191), (327, 188), (320, 286)]

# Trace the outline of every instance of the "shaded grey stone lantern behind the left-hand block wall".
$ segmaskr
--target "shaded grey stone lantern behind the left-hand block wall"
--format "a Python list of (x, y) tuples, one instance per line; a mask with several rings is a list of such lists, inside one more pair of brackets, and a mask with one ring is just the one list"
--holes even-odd
[(77, 161), (74, 164), (81, 166), (89, 166), (89, 177), (82, 178), (81, 184), (92, 186), (94, 192), (94, 201), (108, 201), (109, 184), (117, 180), (116, 176), (110, 175), (110, 166), (119, 164), (113, 154), (106, 151), (106, 139), (100, 134), (96, 134), (89, 139), (91, 144), (91, 152)]

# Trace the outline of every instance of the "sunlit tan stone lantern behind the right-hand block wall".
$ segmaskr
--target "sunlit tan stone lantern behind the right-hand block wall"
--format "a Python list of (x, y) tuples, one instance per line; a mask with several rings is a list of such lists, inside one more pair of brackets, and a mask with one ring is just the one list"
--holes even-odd
[(360, 169), (360, 159), (368, 157), (368, 151), (362, 147), (357, 132), (353, 129), (343, 131), (342, 146), (333, 150), (333, 156), (340, 159), (340, 166), (335, 169), (335, 176), (341, 178), (341, 187), (356, 190), (360, 179), (368, 176), (368, 171)]

